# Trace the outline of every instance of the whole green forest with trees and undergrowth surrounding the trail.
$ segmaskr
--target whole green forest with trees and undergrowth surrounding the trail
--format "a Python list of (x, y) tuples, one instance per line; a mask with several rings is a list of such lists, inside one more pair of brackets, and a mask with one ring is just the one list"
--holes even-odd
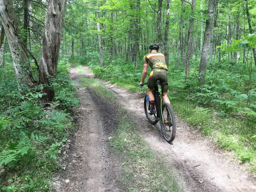
[(0, 191), (50, 190), (76, 130), (71, 65), (136, 93), (151, 43), (165, 55), (175, 113), (255, 174), (255, 5), (0, 0)]

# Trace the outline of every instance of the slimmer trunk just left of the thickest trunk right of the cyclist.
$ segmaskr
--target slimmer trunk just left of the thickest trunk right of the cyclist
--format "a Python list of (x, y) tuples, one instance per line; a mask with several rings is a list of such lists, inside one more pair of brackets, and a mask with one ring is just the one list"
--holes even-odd
[(189, 19), (189, 27), (188, 27), (188, 34), (187, 34), (187, 55), (185, 61), (185, 82), (187, 80), (187, 75), (189, 74), (189, 61), (190, 61), (190, 54), (191, 54), (191, 37), (193, 34), (193, 26), (194, 26), (194, 10), (195, 10), (196, 0), (192, 0), (191, 6), (191, 17)]

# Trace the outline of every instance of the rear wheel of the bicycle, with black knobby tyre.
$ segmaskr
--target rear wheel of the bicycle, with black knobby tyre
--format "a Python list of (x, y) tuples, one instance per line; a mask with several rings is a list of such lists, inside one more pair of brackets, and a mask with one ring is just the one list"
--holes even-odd
[(176, 121), (174, 112), (172, 110), (172, 107), (169, 103), (163, 103), (162, 104), (162, 113), (161, 113), (161, 129), (163, 138), (168, 143), (171, 143), (173, 139), (175, 138), (176, 134)]

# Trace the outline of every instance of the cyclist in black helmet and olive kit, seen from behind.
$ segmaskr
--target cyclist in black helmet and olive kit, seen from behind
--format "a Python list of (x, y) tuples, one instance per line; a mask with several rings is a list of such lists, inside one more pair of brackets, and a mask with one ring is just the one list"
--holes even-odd
[[(151, 67), (151, 73), (148, 77), (147, 87), (148, 87), (148, 98), (150, 100), (150, 111), (148, 112), (151, 115), (156, 114), (155, 109), (155, 98), (153, 94), (153, 88), (156, 85), (156, 82), (159, 80), (160, 83), (168, 83), (167, 79), (167, 65), (165, 63), (165, 56), (158, 52), (159, 45), (156, 43), (152, 43), (149, 46), (150, 53), (144, 56), (143, 61), (143, 72), (142, 72), (142, 80), (140, 85), (144, 83), (145, 77), (147, 75), (147, 63)], [(163, 100), (170, 104), (170, 101), (167, 97), (168, 85), (163, 87)]]

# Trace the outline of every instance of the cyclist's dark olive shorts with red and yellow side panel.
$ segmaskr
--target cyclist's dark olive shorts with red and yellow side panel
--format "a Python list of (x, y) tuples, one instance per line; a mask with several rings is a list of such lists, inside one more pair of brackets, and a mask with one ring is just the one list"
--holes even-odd
[[(153, 68), (147, 80), (147, 87), (153, 89), (158, 80), (160, 81), (160, 83), (168, 83), (167, 70)], [(163, 92), (167, 93), (167, 90), (168, 85), (163, 86)]]

